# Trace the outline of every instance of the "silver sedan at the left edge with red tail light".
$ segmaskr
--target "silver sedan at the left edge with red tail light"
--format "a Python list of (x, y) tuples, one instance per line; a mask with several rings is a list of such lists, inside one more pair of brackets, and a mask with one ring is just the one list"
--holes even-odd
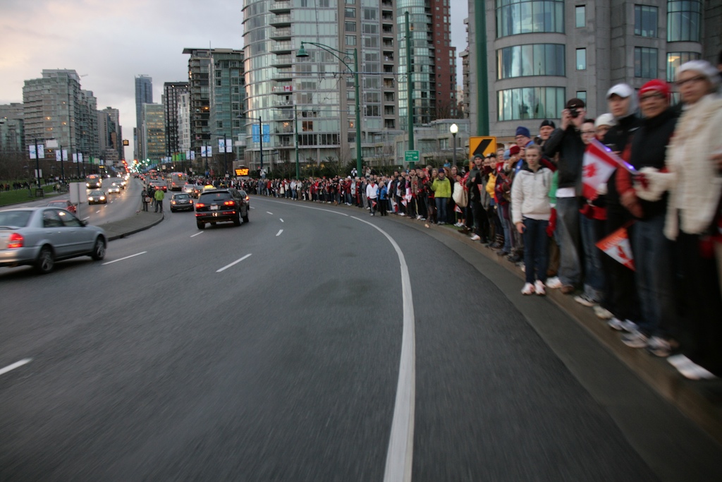
[(0, 211), (0, 267), (30, 264), (40, 273), (55, 262), (79, 256), (105, 257), (105, 231), (57, 207)]

